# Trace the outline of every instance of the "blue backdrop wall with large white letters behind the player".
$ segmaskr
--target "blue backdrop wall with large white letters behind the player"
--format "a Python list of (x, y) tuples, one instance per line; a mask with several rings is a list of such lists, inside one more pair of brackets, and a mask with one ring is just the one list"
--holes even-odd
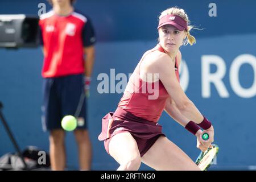
[[(37, 14), (41, 1), (1, 1), (0, 14)], [(254, 1), (214, 1), (217, 17), (208, 16), (208, 5), (212, 1), (81, 1), (76, 7), (93, 20), (97, 29), (97, 57), (93, 72), (92, 89), (89, 98), (89, 131), (93, 143), (93, 169), (115, 169), (117, 163), (105, 152), (103, 142), (97, 140), (101, 131), (101, 118), (114, 111), (122, 94), (99, 94), (97, 80), (100, 73), (110, 76), (133, 72), (144, 51), (155, 46), (157, 36), (157, 17), (160, 11), (170, 6), (183, 7), (199, 28), (192, 35), (197, 38), (195, 46), (181, 48), (183, 60), (187, 64), (189, 84), (188, 97), (201, 113), (213, 122), (214, 143), (220, 146), (217, 165), (213, 169), (247, 169), (256, 166), (254, 131), (255, 94), (249, 98), (237, 94), (229, 76), (230, 68), (238, 56), (253, 56), (256, 62), (256, 16)], [(50, 8), (47, 2), (47, 9)], [(240, 24), (238, 24), (240, 23)], [(1, 35), (0, 35), (1, 36)], [(34, 145), (48, 151), (48, 134), (43, 133), (40, 121), (42, 103), (41, 48), (22, 48), (18, 50), (0, 49), (0, 101), (5, 104), (3, 113), (21, 148)], [(203, 97), (202, 59), (205, 55), (222, 58), (226, 66), (222, 79), (229, 97), (223, 98), (214, 84), (210, 85), (210, 97)], [(208, 58), (210, 60), (211, 58)], [(213, 60), (216, 63), (216, 60)], [(205, 67), (204, 67), (205, 69)], [(210, 73), (220, 69), (210, 65)], [(244, 89), (249, 89), (256, 81), (256, 68), (243, 64), (239, 81)], [(181, 74), (181, 77), (183, 75)], [(117, 83), (118, 81), (116, 81)], [(255, 92), (254, 92), (255, 93)], [(166, 113), (159, 121), (164, 133), (180, 146), (193, 160), (199, 154), (196, 138), (174, 122)], [(77, 150), (72, 133), (67, 133), (68, 167), (77, 168)], [(15, 151), (6, 131), (0, 124), (0, 156)], [(234, 151), (231, 153), (230, 151)], [(141, 169), (149, 169), (142, 166)]]

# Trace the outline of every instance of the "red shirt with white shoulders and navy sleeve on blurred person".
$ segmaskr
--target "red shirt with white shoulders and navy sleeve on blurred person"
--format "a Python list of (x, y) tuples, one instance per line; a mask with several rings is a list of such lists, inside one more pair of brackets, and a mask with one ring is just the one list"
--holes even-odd
[(96, 42), (88, 17), (75, 11), (60, 16), (51, 10), (40, 16), (39, 26), (44, 46), (42, 76), (84, 73), (83, 48)]

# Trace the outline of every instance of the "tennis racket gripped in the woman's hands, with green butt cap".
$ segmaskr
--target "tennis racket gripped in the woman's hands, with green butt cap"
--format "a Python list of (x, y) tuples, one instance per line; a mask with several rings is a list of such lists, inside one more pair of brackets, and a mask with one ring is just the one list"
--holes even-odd
[[(208, 140), (209, 134), (204, 133), (202, 135), (202, 138), (204, 140)], [(213, 160), (214, 158), (216, 158), (218, 154), (218, 150), (219, 150), (218, 146), (216, 144), (212, 144), (212, 148), (208, 148), (208, 150), (205, 152), (201, 151), (198, 158), (196, 159), (196, 164), (201, 169), (201, 171), (207, 171), (210, 165), (213, 164)]]

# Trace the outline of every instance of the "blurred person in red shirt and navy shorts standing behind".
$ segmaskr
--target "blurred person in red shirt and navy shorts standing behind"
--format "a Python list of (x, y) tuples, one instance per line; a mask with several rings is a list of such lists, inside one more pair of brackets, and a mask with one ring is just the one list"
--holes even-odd
[[(51, 0), (52, 10), (40, 16), (44, 64), (43, 128), (49, 131), (53, 170), (64, 170), (65, 131), (61, 119), (75, 115), (82, 94), (89, 93), (94, 63), (94, 30), (88, 16), (77, 13), (72, 0)], [(86, 102), (74, 131), (81, 170), (90, 170), (92, 148), (86, 126)]]

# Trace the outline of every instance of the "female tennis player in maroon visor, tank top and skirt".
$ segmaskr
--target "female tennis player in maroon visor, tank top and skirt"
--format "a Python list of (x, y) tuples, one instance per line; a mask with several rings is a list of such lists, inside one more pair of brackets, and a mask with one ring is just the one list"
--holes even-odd
[[(114, 113), (102, 118), (98, 139), (119, 164), (118, 170), (138, 170), (141, 162), (156, 170), (199, 170), (199, 167), (163, 133), (158, 120), (165, 110), (197, 137), (197, 148), (213, 142), (212, 124), (185, 95), (179, 84), (183, 44), (194, 44), (188, 15), (172, 7), (159, 16), (159, 44), (144, 53)], [(152, 88), (152, 89), (150, 89)], [(146, 90), (146, 92), (145, 92)], [(201, 139), (202, 130), (209, 140)]]

